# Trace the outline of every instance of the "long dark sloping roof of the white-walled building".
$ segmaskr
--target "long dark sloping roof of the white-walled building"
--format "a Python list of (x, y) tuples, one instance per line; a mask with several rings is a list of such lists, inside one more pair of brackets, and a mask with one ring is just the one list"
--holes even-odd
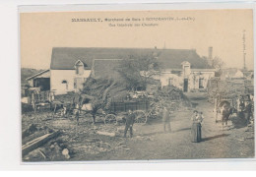
[(194, 49), (54, 47), (50, 69), (74, 70), (78, 60), (84, 63), (85, 69), (92, 69), (94, 59), (132, 59), (150, 54), (158, 58), (162, 68), (181, 68), (184, 61), (189, 62), (191, 68), (211, 68)]

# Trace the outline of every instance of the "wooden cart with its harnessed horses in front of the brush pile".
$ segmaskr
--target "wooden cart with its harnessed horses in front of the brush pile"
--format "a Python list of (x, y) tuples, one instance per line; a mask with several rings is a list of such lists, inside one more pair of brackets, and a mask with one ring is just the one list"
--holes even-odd
[[(52, 104), (55, 105), (53, 106), (53, 114), (55, 114), (55, 117), (57, 116), (56, 114), (60, 117), (72, 114), (78, 121), (80, 118), (93, 117), (94, 105), (91, 103), (91, 100), (94, 97), (87, 94), (83, 94), (81, 97), (77, 103), (74, 103), (74, 100), (73, 103), (53, 101)], [(84, 101), (85, 99), (88, 100)], [(102, 119), (104, 124), (117, 124), (117, 122), (123, 121), (123, 118), (128, 114), (128, 110), (132, 110), (136, 117), (135, 123), (146, 124), (150, 115), (149, 103), (150, 101), (148, 99), (111, 99), (109, 108), (107, 110), (101, 110), (100, 113), (95, 113), (95, 116), (96, 118)], [(56, 104), (58, 107), (61, 107), (58, 111), (56, 111)]]

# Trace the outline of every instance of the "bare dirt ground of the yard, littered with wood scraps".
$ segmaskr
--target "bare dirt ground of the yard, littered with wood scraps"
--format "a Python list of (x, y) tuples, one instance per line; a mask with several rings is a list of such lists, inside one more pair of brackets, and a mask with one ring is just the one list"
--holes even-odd
[[(74, 119), (50, 119), (49, 113), (39, 118), (23, 117), (23, 126), (36, 122), (52, 129), (62, 131), (55, 141), (60, 147), (68, 148), (70, 158), (52, 158), (45, 156), (31, 158), (29, 153), (25, 161), (37, 160), (148, 160), (148, 159), (204, 159), (204, 158), (247, 158), (254, 157), (254, 131), (248, 127), (234, 129), (231, 122), (222, 130), (221, 124), (216, 124), (213, 104), (207, 101), (204, 93), (187, 94), (195, 108), (204, 113), (201, 143), (192, 143), (190, 135), (193, 109), (176, 111), (171, 115), (171, 132), (164, 133), (160, 120), (150, 121), (146, 125), (134, 125), (134, 137), (122, 138), (123, 124), (117, 126), (103, 125), (100, 120), (96, 125), (81, 120), (76, 127)], [(26, 125), (27, 124), (27, 125)], [(251, 129), (252, 130), (252, 129)], [(98, 135), (98, 131), (108, 131), (109, 136)], [(49, 142), (41, 148), (53, 145)], [(33, 150), (34, 151), (34, 150)]]

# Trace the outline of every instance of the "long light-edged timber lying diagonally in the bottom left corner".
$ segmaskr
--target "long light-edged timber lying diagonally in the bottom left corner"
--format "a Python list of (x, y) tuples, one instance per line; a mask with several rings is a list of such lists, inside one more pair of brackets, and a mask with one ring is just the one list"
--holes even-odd
[(45, 134), (41, 137), (38, 137), (31, 142), (27, 143), (22, 147), (23, 155), (28, 154), (30, 151), (32, 151), (35, 148), (41, 147), (43, 144), (48, 142), (50, 139), (57, 137), (60, 134), (60, 132), (53, 132), (51, 134)]

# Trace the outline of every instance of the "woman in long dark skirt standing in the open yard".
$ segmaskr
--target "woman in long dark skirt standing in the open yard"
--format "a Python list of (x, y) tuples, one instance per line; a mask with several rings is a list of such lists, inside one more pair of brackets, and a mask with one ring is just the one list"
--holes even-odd
[(203, 115), (198, 113), (197, 110), (194, 110), (193, 115), (191, 117), (192, 120), (192, 142), (199, 143), (202, 140), (201, 137), (201, 122), (203, 121)]

